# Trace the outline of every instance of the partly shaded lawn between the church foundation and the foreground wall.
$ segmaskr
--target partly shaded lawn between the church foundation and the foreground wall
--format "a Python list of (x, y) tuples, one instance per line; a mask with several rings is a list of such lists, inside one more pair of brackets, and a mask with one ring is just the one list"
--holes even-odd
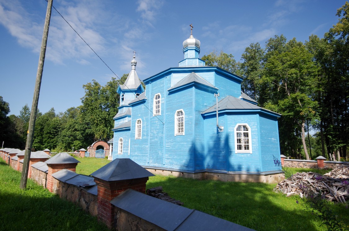
[[(150, 177), (147, 188), (156, 186), (163, 186), (164, 192), (187, 208), (254, 230), (326, 230), (319, 219), (296, 203), (298, 196), (286, 198), (273, 192), (275, 184)], [(341, 211), (348, 214), (344, 206)], [(343, 222), (349, 222), (347, 217)]]

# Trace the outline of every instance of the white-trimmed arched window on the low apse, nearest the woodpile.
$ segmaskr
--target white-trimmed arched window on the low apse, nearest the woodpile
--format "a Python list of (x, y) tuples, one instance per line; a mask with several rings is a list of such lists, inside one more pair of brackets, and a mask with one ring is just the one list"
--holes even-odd
[(235, 126), (235, 153), (252, 153), (251, 128), (247, 124)]

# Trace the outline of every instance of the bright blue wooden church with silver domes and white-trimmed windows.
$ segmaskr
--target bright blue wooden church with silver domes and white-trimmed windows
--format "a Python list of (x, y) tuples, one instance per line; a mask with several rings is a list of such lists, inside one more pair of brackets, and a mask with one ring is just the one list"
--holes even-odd
[(131, 158), (156, 174), (223, 181), (282, 178), (277, 119), (241, 91), (242, 77), (199, 59), (200, 41), (183, 42), (184, 60), (143, 80), (132, 70), (114, 119), (113, 159)]

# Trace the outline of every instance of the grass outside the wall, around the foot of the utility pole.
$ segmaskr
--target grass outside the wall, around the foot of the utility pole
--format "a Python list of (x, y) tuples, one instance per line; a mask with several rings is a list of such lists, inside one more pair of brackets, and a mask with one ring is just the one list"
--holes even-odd
[(0, 160), (0, 230), (107, 230), (95, 217), (72, 202), (28, 179), (20, 189), (21, 173)]

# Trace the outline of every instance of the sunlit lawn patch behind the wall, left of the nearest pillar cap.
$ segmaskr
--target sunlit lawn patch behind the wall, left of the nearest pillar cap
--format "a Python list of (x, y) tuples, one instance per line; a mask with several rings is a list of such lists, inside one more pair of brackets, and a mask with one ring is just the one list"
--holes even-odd
[(92, 172), (100, 169), (104, 165), (110, 163), (108, 159), (104, 158), (90, 158), (90, 157), (75, 157), (81, 163), (78, 163), (76, 166), (76, 173), (84, 174), (89, 176)]

